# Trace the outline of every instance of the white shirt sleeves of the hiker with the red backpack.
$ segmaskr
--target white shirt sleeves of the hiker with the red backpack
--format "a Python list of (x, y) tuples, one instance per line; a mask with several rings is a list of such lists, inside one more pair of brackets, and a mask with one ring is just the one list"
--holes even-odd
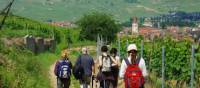
[[(131, 63), (131, 57), (128, 57), (128, 61)], [(124, 78), (124, 74), (127, 68), (127, 64), (126, 62), (123, 60), (121, 67), (120, 67), (120, 71), (119, 71), (119, 77), (120, 78)], [(148, 75), (147, 73), (147, 69), (146, 69), (146, 65), (145, 65), (145, 61), (143, 58), (140, 58), (140, 62), (139, 62), (139, 68), (142, 70), (142, 75), (144, 77), (146, 77)]]

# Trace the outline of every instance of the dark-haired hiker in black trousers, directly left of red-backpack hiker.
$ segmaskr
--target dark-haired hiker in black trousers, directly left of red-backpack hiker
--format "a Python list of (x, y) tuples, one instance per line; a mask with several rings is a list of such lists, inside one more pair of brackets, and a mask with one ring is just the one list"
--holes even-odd
[(118, 76), (119, 76), (119, 66), (120, 66), (120, 57), (117, 56), (117, 49), (116, 48), (112, 48), (110, 50), (110, 54), (111, 57), (113, 57), (116, 61), (117, 64), (113, 63), (111, 70), (112, 70), (112, 74), (114, 76), (114, 80), (113, 80), (113, 88), (117, 88), (117, 83), (118, 83)]

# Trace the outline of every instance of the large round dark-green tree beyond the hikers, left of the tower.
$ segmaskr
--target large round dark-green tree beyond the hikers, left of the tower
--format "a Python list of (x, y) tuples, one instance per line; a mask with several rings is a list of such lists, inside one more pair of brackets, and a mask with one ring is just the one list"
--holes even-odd
[(116, 33), (120, 29), (120, 25), (113, 19), (111, 15), (99, 12), (85, 14), (77, 21), (82, 28), (80, 39), (97, 40), (97, 35), (101, 35), (109, 42), (116, 38)]

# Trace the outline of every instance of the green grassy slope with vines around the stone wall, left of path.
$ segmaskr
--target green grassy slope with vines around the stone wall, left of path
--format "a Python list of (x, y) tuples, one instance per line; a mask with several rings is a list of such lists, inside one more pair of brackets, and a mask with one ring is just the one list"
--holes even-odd
[[(68, 46), (68, 37), (72, 41), (71, 47), (91, 44), (88, 41), (78, 40), (79, 31), (77, 28), (66, 29), (20, 16), (9, 16), (3, 29), (0, 30), (0, 88), (50, 88), (49, 67), (60, 57), (61, 49)], [(46, 51), (34, 54), (23, 44), (7, 45), (8, 43), (4, 41), (23, 40), (27, 34), (35, 37), (54, 37), (57, 42), (55, 53)], [(78, 53), (70, 54), (73, 62)], [(76, 81), (72, 83), (77, 84)]]

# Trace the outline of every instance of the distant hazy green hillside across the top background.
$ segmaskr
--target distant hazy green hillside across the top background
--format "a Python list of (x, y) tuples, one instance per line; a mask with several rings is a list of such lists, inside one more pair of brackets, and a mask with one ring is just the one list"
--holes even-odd
[[(0, 1), (3, 9), (9, 0)], [(39, 21), (75, 21), (89, 11), (103, 11), (124, 22), (132, 16), (152, 16), (170, 10), (200, 11), (199, 0), (16, 0), (12, 13)]]

